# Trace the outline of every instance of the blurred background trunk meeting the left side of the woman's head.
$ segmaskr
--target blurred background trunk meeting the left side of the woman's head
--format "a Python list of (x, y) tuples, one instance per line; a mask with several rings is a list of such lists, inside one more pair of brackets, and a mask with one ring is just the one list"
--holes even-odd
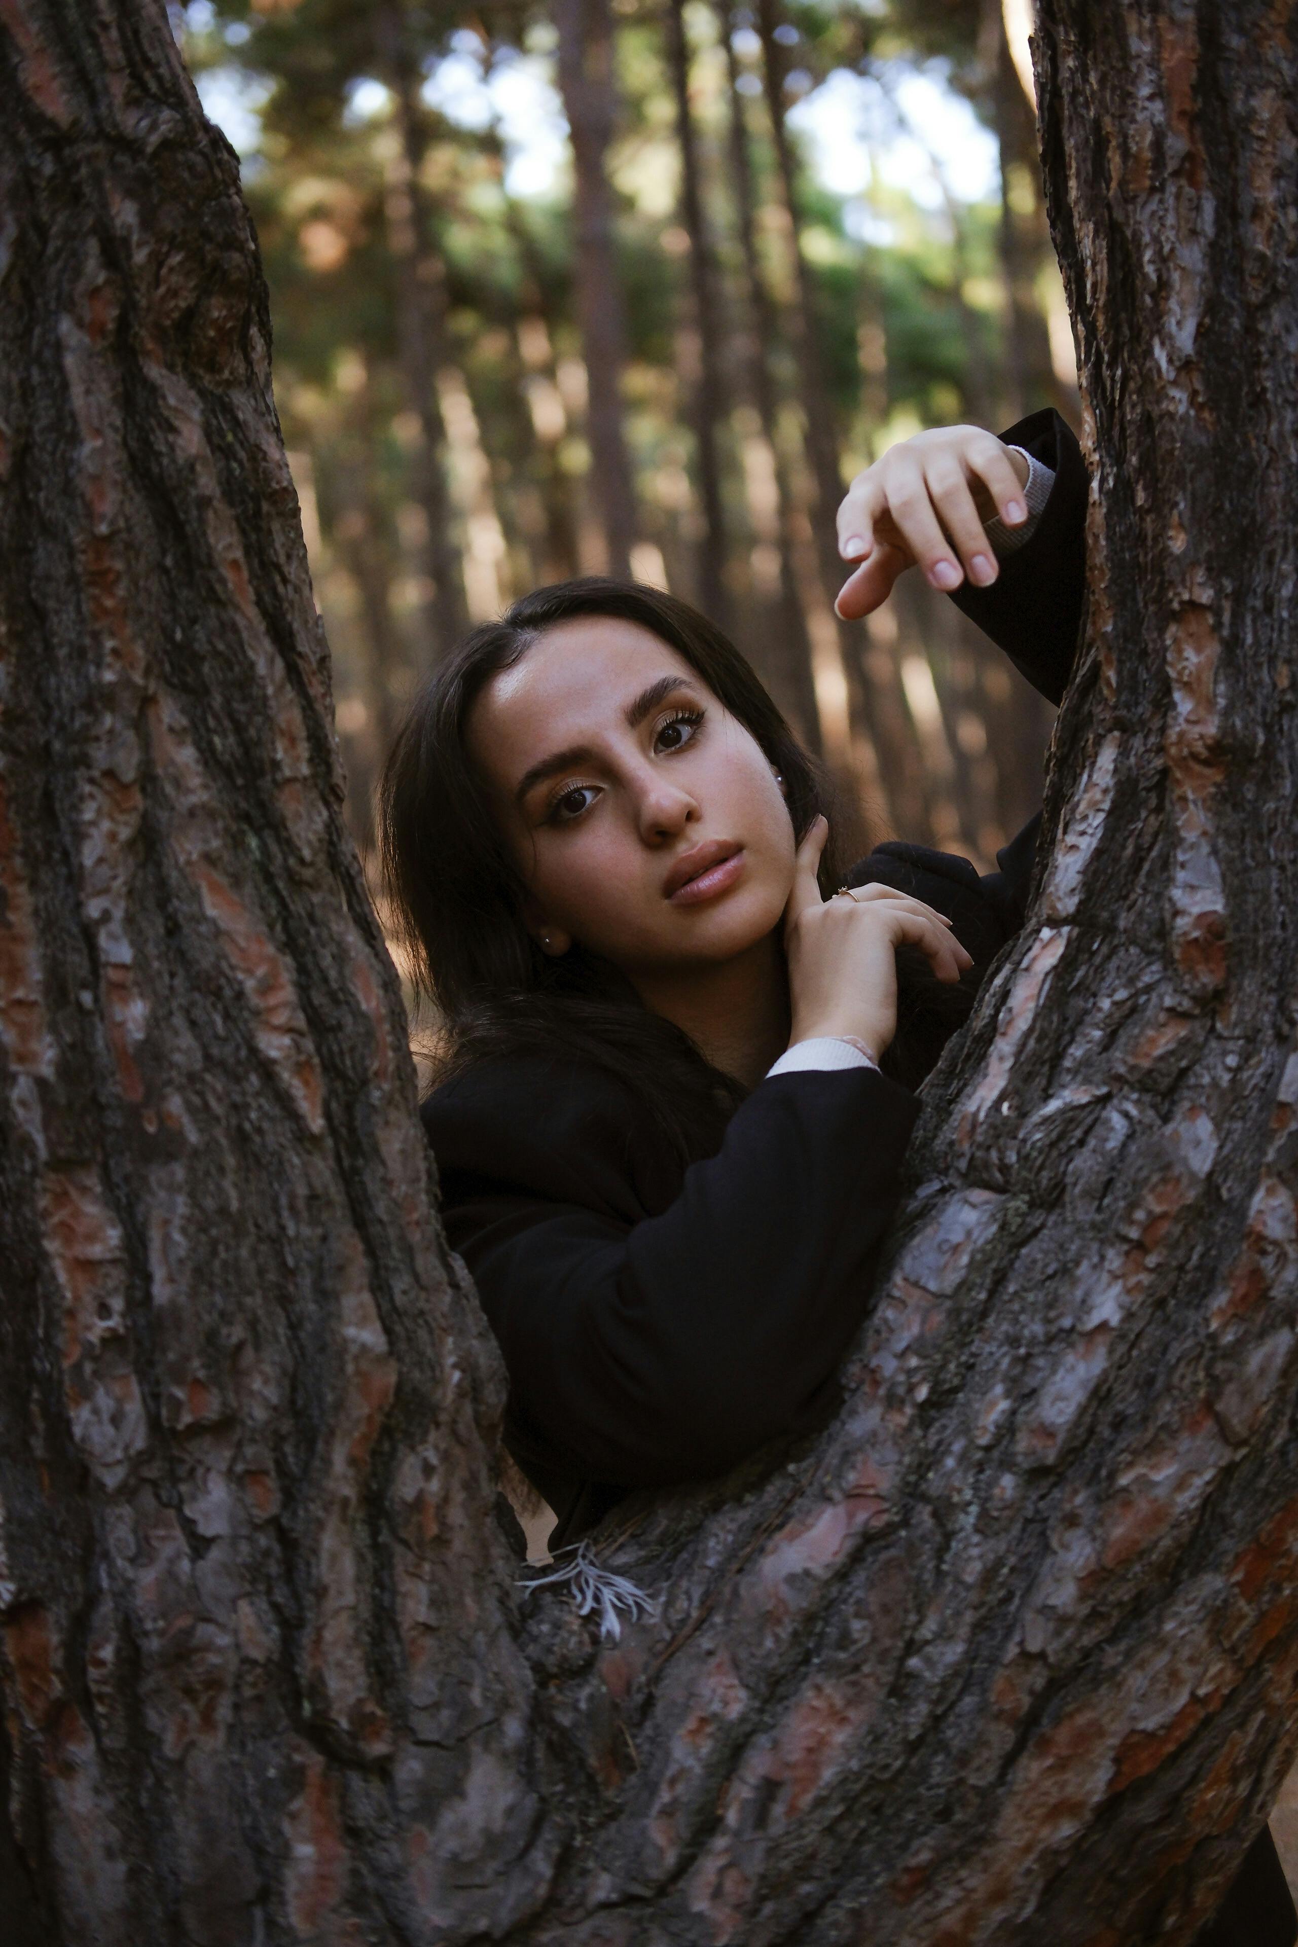
[(438, 403), (438, 372), (448, 364), (446, 267), (432, 247), (428, 210), (418, 171), (424, 132), (418, 101), (418, 64), (399, 0), (376, 14), (376, 43), (397, 101), (399, 148), (385, 187), (387, 247), (397, 267), (397, 345), (401, 370), (418, 415), (416, 498), (428, 518), (424, 543), (432, 596), (424, 606), (434, 656), (446, 656), (469, 627), (463, 565), (446, 479), (446, 426)]

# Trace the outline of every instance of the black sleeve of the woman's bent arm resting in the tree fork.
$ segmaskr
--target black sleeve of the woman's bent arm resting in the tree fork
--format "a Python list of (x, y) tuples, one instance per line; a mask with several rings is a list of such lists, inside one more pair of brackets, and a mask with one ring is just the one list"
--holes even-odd
[[(872, 1069), (767, 1079), (718, 1155), (638, 1223), (607, 1192), (617, 1108), (578, 1141), (545, 1116), (475, 1125), (463, 1100), (432, 1108), (450, 1242), (512, 1402), (557, 1454), (597, 1480), (666, 1486), (815, 1423), (897, 1201), (909, 1090)], [(625, 1102), (621, 1121), (625, 1149)], [(560, 1178), (566, 1201), (527, 1188)]]

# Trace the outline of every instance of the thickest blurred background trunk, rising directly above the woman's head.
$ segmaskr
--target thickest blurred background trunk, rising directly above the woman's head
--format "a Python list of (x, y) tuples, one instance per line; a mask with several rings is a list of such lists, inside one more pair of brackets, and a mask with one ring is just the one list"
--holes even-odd
[(609, 557), (607, 572), (627, 580), (636, 537), (636, 502), (623, 432), (627, 319), (613, 236), (613, 193), (605, 173), (617, 107), (609, 0), (555, 0), (555, 25), (559, 84), (572, 134), (576, 302), (590, 382), (592, 487)]

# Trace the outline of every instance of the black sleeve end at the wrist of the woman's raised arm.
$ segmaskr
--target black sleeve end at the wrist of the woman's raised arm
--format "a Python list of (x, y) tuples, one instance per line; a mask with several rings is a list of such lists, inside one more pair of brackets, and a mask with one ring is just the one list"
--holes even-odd
[(961, 582), (952, 602), (1004, 648), (1033, 689), (1059, 703), (1082, 629), (1086, 463), (1070, 428), (1051, 407), (1020, 419), (1000, 438), (1051, 467), (1055, 485), (1031, 539), (1006, 555), (991, 588)]

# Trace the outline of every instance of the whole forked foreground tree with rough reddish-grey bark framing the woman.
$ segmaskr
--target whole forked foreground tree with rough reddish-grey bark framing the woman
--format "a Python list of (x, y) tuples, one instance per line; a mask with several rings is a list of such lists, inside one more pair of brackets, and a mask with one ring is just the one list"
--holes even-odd
[(1294, 66), (1045, 0), (1096, 459), (1031, 925), (815, 1441), (520, 1608), (234, 156), (0, 0), (0, 1861), (35, 1937), (1181, 1943), (1296, 1745)]

